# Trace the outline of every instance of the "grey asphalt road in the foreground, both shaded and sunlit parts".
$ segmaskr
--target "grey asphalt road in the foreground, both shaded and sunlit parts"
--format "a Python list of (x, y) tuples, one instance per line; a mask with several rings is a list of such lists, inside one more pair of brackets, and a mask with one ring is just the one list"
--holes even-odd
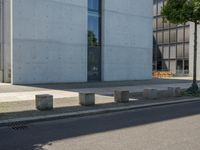
[(200, 150), (200, 102), (0, 128), (0, 150)]

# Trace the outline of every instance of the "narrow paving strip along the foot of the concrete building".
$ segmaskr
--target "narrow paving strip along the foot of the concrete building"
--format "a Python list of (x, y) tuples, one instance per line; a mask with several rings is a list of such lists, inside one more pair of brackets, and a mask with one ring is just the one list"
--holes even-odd
[[(200, 81), (199, 81), (200, 82)], [(131, 81), (109, 81), (109, 82), (84, 82), (84, 83), (55, 83), (55, 84), (32, 84), (32, 85), (0, 85), (0, 93), (41, 91), (41, 90), (63, 90), (77, 91), (86, 88), (114, 88), (127, 86), (161, 85), (175, 83), (192, 83), (190, 79), (151, 79)]]

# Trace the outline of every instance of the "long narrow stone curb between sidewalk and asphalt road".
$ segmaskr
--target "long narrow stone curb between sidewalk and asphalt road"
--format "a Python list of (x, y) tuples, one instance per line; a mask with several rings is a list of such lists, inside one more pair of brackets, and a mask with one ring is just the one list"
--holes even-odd
[(192, 102), (199, 102), (200, 98), (193, 98), (193, 99), (183, 99), (183, 100), (174, 100), (168, 102), (156, 102), (151, 104), (141, 104), (141, 105), (131, 105), (131, 106), (121, 106), (121, 107), (113, 107), (113, 108), (102, 108), (98, 110), (85, 110), (79, 112), (70, 112), (70, 113), (62, 113), (62, 114), (55, 114), (49, 116), (36, 116), (36, 117), (25, 117), (19, 119), (8, 119), (5, 121), (0, 121), (0, 127), (10, 126), (12, 124), (26, 124), (26, 123), (34, 123), (39, 121), (50, 121), (50, 120), (57, 120), (57, 119), (66, 119), (72, 117), (84, 117), (89, 115), (96, 115), (96, 114), (105, 114), (111, 112), (119, 112), (119, 111), (127, 111), (132, 109), (144, 109), (150, 107), (159, 107), (165, 105), (173, 105), (173, 104), (181, 104), (181, 103), (192, 103)]

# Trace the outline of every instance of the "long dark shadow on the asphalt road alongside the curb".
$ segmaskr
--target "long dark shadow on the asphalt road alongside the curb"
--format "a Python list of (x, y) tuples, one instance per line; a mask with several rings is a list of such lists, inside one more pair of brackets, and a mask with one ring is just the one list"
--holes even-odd
[[(0, 147), (5, 147), (5, 150), (19, 148), (20, 146), (21, 149), (43, 150), (43, 146), (51, 146), (53, 141), (106, 133), (108, 131), (199, 115), (199, 108), (200, 102), (193, 102), (107, 115), (30, 124), (29, 128), (25, 131), (11, 132), (10, 130), (12, 129), (6, 131), (0, 130), (1, 137), (4, 137), (0, 141)], [(11, 142), (9, 141), (10, 137), (16, 141), (9, 145)]]

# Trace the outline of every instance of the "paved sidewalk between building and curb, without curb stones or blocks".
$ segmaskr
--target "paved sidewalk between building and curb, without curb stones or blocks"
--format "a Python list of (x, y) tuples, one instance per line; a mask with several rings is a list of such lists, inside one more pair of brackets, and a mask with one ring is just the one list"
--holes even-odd
[[(173, 82), (172, 82), (173, 81)], [(176, 82), (175, 82), (176, 81)], [(144, 80), (124, 81), (108, 83), (88, 84), (54, 84), (54, 85), (10, 85), (0, 84), (0, 120), (8, 120), (23, 117), (46, 117), (65, 113), (75, 113), (85, 110), (96, 111), (99, 109), (116, 109), (116, 107), (130, 107), (131, 105), (152, 104), (157, 102), (170, 102), (183, 98), (168, 98), (159, 100), (144, 100), (138, 97), (130, 99), (130, 103), (116, 104), (114, 91), (130, 91), (130, 93), (142, 92), (144, 89), (167, 90), (168, 87), (181, 87), (187, 89), (191, 85), (190, 80)], [(96, 104), (92, 108), (80, 107), (79, 92), (96, 93)], [(39, 112), (35, 109), (35, 95), (50, 94), (54, 96), (53, 111)], [(189, 97), (184, 97), (189, 98)]]

